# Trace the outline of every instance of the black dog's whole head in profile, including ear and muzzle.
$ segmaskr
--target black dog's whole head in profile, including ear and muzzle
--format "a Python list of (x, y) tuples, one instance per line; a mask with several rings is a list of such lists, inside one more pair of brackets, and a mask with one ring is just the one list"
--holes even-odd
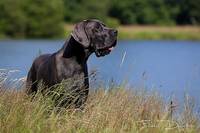
[(76, 24), (72, 36), (85, 48), (92, 48), (97, 57), (109, 54), (117, 43), (117, 30), (94, 19)]

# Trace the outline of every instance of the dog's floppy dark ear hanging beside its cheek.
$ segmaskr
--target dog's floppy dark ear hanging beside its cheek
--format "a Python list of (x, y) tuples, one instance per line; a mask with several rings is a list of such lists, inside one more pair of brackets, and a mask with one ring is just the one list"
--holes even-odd
[(72, 37), (82, 44), (84, 47), (88, 47), (90, 45), (90, 40), (87, 36), (85, 26), (87, 24), (87, 20), (79, 22), (75, 25), (73, 32), (71, 33)]

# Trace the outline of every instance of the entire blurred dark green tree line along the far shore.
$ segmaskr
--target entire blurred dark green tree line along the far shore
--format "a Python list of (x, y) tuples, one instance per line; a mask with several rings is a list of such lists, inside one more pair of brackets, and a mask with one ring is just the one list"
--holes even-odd
[(200, 24), (200, 0), (0, 0), (0, 34), (53, 38), (63, 24), (97, 18), (119, 24)]

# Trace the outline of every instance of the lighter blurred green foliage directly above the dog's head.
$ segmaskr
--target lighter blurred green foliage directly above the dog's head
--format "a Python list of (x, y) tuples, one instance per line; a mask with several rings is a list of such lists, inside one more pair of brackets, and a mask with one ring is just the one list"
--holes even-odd
[(108, 16), (109, 0), (64, 0), (65, 21), (78, 22), (97, 18), (104, 21)]

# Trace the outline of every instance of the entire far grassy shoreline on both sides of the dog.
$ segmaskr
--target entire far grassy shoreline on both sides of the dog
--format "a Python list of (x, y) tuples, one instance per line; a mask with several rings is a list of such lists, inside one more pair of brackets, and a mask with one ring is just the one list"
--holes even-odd
[[(73, 24), (64, 25), (64, 35), (59, 38), (11, 38), (0, 34), (2, 40), (57, 40), (65, 39), (73, 30)], [(152, 25), (128, 25), (118, 26), (119, 40), (188, 40), (200, 41), (200, 26), (152, 26)]]

